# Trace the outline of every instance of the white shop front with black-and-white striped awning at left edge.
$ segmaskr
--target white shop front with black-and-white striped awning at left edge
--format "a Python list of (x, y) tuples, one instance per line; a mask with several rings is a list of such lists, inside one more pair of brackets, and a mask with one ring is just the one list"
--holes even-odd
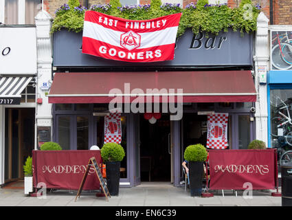
[(34, 149), (36, 26), (0, 25), (0, 185), (23, 178)]

